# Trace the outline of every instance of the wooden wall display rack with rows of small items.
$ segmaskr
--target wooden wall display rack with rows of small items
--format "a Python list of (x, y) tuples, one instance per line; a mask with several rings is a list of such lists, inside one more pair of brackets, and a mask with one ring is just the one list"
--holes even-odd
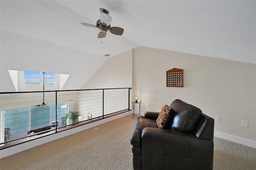
[(166, 71), (166, 87), (183, 87), (183, 69)]

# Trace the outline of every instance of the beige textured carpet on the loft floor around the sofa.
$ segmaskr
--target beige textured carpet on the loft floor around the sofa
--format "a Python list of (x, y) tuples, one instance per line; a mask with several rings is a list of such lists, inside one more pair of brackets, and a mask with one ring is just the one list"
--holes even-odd
[[(2, 158), (1, 170), (132, 170), (132, 115)], [(256, 149), (214, 138), (214, 170), (255, 170)]]

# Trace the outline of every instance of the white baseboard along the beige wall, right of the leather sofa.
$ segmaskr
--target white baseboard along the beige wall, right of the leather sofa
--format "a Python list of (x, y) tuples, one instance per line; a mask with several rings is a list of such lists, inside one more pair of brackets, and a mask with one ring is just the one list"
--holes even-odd
[(218, 137), (218, 138), (225, 139), (225, 140), (230, 140), (232, 142), (236, 142), (236, 143), (239, 143), (239, 144), (243, 144), (243, 145), (246, 145), (246, 146), (250, 146), (252, 148), (256, 148), (256, 141), (254, 141), (254, 140), (241, 138), (239, 136), (234, 136), (232, 134), (218, 132), (218, 131), (215, 131), (215, 130), (214, 130), (214, 136)]

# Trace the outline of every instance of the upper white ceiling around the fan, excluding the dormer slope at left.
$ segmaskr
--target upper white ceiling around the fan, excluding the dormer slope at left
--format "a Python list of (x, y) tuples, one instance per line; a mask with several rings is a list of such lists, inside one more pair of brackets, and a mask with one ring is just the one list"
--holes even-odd
[[(1, 0), (0, 6), (1, 31), (99, 59), (145, 46), (256, 63), (256, 1)], [(99, 8), (109, 11), (111, 26), (124, 28), (122, 36), (107, 32), (101, 40), (98, 28), (80, 24), (96, 25)]]

